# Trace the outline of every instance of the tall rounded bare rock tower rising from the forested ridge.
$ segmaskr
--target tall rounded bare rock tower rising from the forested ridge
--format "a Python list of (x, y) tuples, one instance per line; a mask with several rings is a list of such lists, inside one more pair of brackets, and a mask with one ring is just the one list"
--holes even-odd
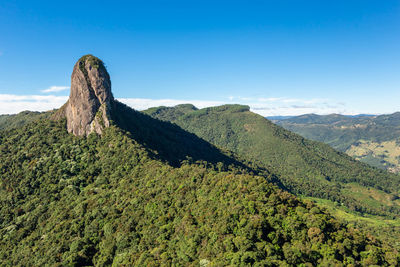
[(68, 132), (78, 136), (101, 134), (110, 126), (113, 101), (110, 75), (103, 62), (92, 55), (81, 57), (72, 72), (65, 107)]

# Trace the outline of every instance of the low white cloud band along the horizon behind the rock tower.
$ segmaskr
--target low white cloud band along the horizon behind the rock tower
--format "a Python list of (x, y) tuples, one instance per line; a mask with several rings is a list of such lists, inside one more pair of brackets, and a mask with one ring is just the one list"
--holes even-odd
[[(24, 110), (51, 110), (61, 107), (67, 100), (68, 96), (0, 94), (0, 114), (14, 114)], [(225, 101), (149, 98), (118, 98), (118, 100), (137, 110), (144, 110), (150, 107), (157, 106), (175, 106), (178, 104), (190, 103), (198, 108), (218, 106), (223, 104), (249, 105), (250, 110), (262, 116), (301, 115), (306, 113), (366, 113), (363, 110), (353, 110), (343, 102), (335, 102), (329, 99), (296, 99), (286, 97), (227, 97)], [(369, 112), (371, 113), (374, 111)]]

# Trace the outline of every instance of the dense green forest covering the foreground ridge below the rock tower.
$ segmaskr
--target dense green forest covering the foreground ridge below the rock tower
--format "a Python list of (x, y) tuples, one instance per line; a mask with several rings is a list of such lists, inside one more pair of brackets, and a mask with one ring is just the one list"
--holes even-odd
[(398, 264), (397, 251), (211, 145), (214, 162), (182, 159), (182, 147), (169, 163), (155, 148), (178, 127), (146, 122), (136, 131), (165, 129), (157, 144), (116, 126), (76, 137), (65, 120), (0, 131), (1, 265)]

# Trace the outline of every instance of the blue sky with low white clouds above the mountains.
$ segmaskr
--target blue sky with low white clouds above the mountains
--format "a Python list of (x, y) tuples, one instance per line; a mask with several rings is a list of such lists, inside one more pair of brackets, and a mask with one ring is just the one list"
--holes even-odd
[(400, 111), (400, 1), (0, 2), (0, 114), (61, 106), (91, 53), (137, 109)]

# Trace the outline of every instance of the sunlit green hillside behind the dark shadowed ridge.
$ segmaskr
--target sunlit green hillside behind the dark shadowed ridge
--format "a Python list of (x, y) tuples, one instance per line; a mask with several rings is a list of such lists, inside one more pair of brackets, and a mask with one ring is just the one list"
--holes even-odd
[[(400, 177), (371, 168), (327, 145), (310, 141), (249, 111), (225, 105), (176, 117), (181, 106), (145, 113), (169, 120), (219, 147), (230, 149), (277, 173), (291, 192), (329, 199), (366, 214), (398, 216)], [(168, 114), (174, 114), (170, 117)], [(368, 188), (373, 189), (373, 193)], [(368, 189), (368, 190), (367, 190)], [(381, 198), (374, 198), (380, 194)]]

